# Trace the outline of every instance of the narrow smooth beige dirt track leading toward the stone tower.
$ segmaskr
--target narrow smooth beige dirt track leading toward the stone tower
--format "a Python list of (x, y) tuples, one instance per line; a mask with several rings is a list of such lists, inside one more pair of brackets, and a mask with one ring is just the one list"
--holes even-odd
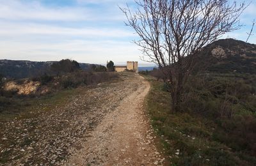
[(104, 117), (68, 165), (163, 165), (143, 110), (150, 84), (139, 76), (136, 81), (138, 89)]

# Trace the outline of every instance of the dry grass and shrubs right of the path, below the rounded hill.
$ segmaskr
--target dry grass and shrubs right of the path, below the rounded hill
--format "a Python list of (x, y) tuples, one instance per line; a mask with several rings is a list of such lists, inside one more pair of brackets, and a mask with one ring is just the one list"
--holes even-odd
[(152, 85), (147, 111), (173, 165), (256, 164), (255, 75), (189, 79), (182, 112), (171, 109), (164, 82), (145, 77)]

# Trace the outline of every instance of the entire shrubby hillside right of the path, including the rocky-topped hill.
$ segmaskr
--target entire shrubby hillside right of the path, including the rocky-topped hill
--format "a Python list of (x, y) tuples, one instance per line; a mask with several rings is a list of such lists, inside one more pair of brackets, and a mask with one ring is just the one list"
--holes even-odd
[(180, 112), (159, 70), (149, 72), (157, 79), (145, 75), (152, 87), (147, 111), (169, 162), (256, 165), (256, 45), (218, 40), (197, 56)]

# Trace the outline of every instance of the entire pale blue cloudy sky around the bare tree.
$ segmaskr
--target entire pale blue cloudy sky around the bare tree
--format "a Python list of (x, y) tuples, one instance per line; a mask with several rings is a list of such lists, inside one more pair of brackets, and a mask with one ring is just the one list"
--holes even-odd
[[(0, 0), (0, 59), (68, 58), (97, 64), (139, 61), (140, 66), (150, 66), (140, 60), (140, 48), (132, 43), (138, 36), (124, 24), (126, 19), (118, 6), (125, 3), (132, 5), (134, 1)], [(222, 38), (246, 41), (246, 33), (256, 20), (256, 1), (245, 3), (250, 5), (240, 18), (244, 26)], [(256, 44), (255, 30), (248, 42)]]

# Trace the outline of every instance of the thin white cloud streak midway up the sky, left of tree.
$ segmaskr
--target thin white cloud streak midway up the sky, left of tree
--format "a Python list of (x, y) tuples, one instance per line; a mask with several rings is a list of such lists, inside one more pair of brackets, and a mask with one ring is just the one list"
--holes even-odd
[(131, 31), (113, 27), (63, 27), (33, 23), (0, 22), (0, 36), (24, 36), (24, 35), (63, 35), (84, 37), (115, 37), (125, 38), (134, 36)]

